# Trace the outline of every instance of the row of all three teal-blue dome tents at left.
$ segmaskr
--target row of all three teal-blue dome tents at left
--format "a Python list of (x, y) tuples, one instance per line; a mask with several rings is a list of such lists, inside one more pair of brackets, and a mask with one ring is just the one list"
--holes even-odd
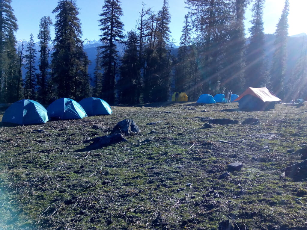
[(40, 103), (23, 99), (6, 109), (2, 122), (18, 125), (41, 124), (52, 118), (82, 119), (87, 116), (110, 115), (110, 105), (100, 98), (85, 98), (79, 103), (70, 98), (60, 98), (52, 102), (47, 109)]

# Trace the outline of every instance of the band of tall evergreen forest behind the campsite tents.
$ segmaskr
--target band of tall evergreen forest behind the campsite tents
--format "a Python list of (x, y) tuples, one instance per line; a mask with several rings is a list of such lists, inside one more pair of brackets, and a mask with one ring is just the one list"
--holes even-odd
[[(144, 3), (139, 6), (133, 19), (137, 26), (126, 34), (121, 1), (105, 0), (97, 31), (102, 45), (90, 75), (75, 0), (58, 0), (50, 12), (56, 21), (42, 17), (39, 34), (31, 33), (26, 45), (16, 45), (18, 23), (11, 0), (0, 0), (0, 103), (25, 98), (47, 104), (54, 98), (79, 101), (93, 96), (111, 105), (138, 104), (168, 101), (173, 92), (186, 92), (189, 101), (195, 101), (200, 94), (228, 89), (240, 94), (247, 87), (267, 87), (285, 101), (306, 99), (304, 44), (286, 78), (289, 0), (276, 25), (271, 62), (265, 58), (264, 4), (265, 0), (185, 0), (188, 14), (182, 17), (180, 46), (173, 52), (168, 0), (157, 12)], [(250, 5), (247, 38), (243, 21)], [(119, 44), (124, 47), (121, 54)]]

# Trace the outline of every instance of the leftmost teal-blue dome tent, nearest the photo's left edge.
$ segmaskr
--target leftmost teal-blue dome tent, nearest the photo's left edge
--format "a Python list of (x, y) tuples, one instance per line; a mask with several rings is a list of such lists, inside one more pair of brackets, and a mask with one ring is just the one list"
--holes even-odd
[(6, 109), (2, 122), (18, 125), (42, 124), (48, 121), (47, 110), (40, 103), (23, 99)]

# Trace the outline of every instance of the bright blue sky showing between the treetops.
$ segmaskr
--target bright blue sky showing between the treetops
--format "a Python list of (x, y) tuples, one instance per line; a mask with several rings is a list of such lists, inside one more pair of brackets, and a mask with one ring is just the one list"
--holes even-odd
[[(79, 18), (82, 23), (82, 39), (98, 40), (99, 39), (99, 13), (102, 12), (103, 0), (76, 0), (80, 8)], [(146, 7), (152, 7), (155, 12), (161, 10), (163, 0), (122, 0), (122, 10), (124, 16), (122, 21), (125, 24), (125, 32), (134, 29), (137, 23), (139, 11), (142, 9), (142, 2)], [(184, 4), (185, 0), (169, 0), (169, 11), (172, 16), (170, 29), (171, 36), (179, 44), (181, 30), (184, 22), (184, 16), (188, 12)], [(37, 41), (39, 21), (44, 15), (50, 16), (54, 23), (55, 15), (52, 10), (56, 7), (57, 0), (12, 0), (12, 7), (19, 29), (16, 33), (17, 40), (29, 40), (30, 33), (34, 35)], [(284, 5), (283, 0), (266, 0), (264, 9), (264, 32), (274, 33), (276, 24), (281, 15)], [(290, 0), (289, 35), (307, 33), (307, 24), (305, 23), (305, 9), (307, 9), (306, 0)], [(250, 27), (251, 12), (247, 10), (245, 27)], [(52, 38), (54, 38), (54, 28), (52, 27)]]

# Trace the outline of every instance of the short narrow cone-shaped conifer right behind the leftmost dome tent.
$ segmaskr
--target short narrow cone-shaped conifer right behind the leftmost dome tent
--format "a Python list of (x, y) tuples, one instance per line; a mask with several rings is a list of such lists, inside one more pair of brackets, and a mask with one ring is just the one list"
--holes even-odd
[(25, 74), (25, 92), (24, 98), (35, 100), (36, 98), (36, 67), (35, 67), (35, 59), (36, 59), (36, 50), (35, 50), (35, 43), (33, 40), (33, 34), (30, 34), (30, 40), (27, 44), (28, 53), (25, 55), (25, 69), (27, 70)]

